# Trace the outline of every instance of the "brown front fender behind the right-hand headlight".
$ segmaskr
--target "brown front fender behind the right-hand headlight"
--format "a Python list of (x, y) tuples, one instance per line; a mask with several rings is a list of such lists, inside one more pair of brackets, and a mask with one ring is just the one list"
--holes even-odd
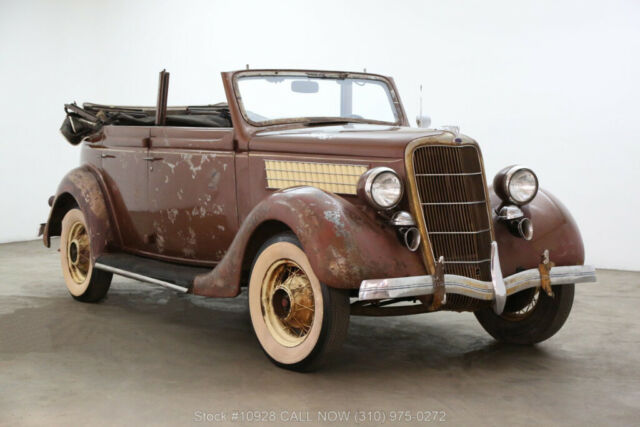
[(521, 207), (533, 223), (533, 238), (529, 241), (511, 234), (507, 225), (497, 218), (495, 211), (501, 200), (493, 189), (490, 189), (490, 197), (504, 276), (537, 268), (545, 249), (549, 250), (549, 258), (557, 266), (584, 264), (580, 230), (569, 210), (550, 192), (540, 189), (529, 204)]

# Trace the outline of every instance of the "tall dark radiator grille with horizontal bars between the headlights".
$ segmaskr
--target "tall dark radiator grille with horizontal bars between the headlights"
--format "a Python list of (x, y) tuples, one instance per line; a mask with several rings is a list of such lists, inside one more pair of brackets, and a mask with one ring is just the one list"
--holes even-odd
[(491, 218), (475, 146), (425, 145), (413, 169), (434, 259), (445, 273), (490, 280)]

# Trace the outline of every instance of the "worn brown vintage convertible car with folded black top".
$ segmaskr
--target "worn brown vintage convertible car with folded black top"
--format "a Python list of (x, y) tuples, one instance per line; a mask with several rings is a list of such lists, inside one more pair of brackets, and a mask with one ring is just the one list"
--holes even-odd
[[(73, 298), (112, 275), (213, 298), (248, 290), (255, 334), (278, 366), (317, 368), (350, 315), (473, 312), (495, 339), (533, 344), (564, 324), (583, 265), (571, 214), (508, 166), (488, 185), (455, 127), (409, 127), (389, 77), (222, 73), (226, 103), (67, 104), (81, 143), (44, 243), (60, 236)], [(390, 339), (392, 339), (390, 337)]]

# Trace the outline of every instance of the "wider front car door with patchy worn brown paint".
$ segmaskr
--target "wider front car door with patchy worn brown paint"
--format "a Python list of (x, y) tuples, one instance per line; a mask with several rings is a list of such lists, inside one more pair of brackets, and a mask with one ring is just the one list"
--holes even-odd
[(176, 261), (221, 260), (238, 228), (231, 128), (151, 129), (153, 251)]

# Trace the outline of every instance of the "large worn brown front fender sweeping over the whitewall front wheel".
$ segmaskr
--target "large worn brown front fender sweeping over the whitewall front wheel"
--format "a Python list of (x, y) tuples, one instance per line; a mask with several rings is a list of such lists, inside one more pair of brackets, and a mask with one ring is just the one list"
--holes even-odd
[(295, 187), (273, 193), (251, 211), (222, 261), (196, 278), (193, 293), (236, 296), (251, 237), (270, 221), (295, 233), (327, 286), (357, 289), (365, 279), (426, 274), (418, 253), (405, 248), (391, 226), (335, 194)]

